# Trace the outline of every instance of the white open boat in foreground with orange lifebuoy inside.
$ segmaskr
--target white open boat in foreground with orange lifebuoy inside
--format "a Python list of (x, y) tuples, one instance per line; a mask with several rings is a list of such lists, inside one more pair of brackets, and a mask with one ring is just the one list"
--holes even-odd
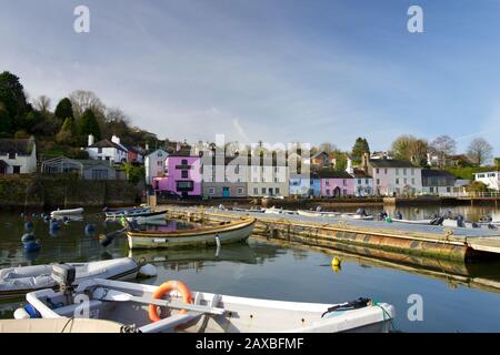
[[(81, 298), (88, 301), (86, 310), (71, 301)], [(41, 318), (70, 323), (87, 317), (112, 322), (117, 324), (113, 329), (120, 326), (122, 332), (137, 333), (376, 333), (390, 331), (394, 317), (392, 305), (373, 305), (369, 300), (332, 305), (234, 297), (191, 292), (178, 281), (152, 286), (92, 280), (69, 294), (32, 292), (27, 301)], [(16, 314), (18, 318), (28, 315), (22, 310)]]

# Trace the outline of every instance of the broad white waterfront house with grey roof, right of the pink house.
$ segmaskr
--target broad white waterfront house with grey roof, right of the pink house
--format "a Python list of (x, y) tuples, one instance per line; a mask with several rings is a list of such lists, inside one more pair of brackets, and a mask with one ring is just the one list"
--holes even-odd
[(373, 176), (373, 193), (392, 196), (422, 192), (422, 169), (410, 161), (370, 159), (369, 173)]

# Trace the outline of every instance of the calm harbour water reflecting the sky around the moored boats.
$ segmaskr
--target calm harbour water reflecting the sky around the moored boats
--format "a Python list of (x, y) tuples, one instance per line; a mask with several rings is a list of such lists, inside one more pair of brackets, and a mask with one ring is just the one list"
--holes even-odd
[[(467, 217), (493, 212), (463, 207), (454, 211)], [(406, 217), (437, 213), (421, 209), (401, 212)], [(36, 235), (42, 244), (38, 254), (27, 255), (21, 247), (27, 220), (36, 223)], [(0, 267), (129, 255), (124, 239), (104, 250), (97, 236), (86, 235), (88, 223), (97, 225), (98, 234), (118, 229), (117, 224), (104, 223), (100, 213), (94, 213), (87, 214), (84, 222), (71, 222), (57, 235), (50, 235), (40, 217), (0, 214)], [(333, 255), (342, 260), (340, 270), (333, 271), (330, 266)], [(341, 303), (368, 296), (396, 306), (394, 325), (399, 331), (500, 332), (500, 288), (496, 288), (500, 287), (498, 262), (464, 265), (404, 257), (400, 262), (381, 261), (334, 251), (289, 247), (257, 239), (251, 239), (249, 245), (223, 246), (219, 256), (214, 248), (134, 252), (130, 256), (156, 263), (159, 274), (146, 283), (182, 280), (192, 290), (302, 302)], [(407, 317), (407, 300), (411, 294), (423, 297), (423, 322), (410, 322)], [(0, 318), (11, 317), (21, 303), (0, 304)]]

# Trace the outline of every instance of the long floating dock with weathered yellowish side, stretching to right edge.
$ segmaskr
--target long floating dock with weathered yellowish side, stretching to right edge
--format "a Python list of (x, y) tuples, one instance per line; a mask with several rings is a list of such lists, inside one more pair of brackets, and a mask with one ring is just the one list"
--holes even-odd
[(497, 230), (308, 217), (216, 207), (166, 206), (164, 210), (169, 219), (202, 223), (224, 223), (250, 216), (257, 220), (254, 233), (267, 239), (348, 252), (361, 248), (366, 255), (384, 251), (462, 262), (500, 258), (500, 231)]

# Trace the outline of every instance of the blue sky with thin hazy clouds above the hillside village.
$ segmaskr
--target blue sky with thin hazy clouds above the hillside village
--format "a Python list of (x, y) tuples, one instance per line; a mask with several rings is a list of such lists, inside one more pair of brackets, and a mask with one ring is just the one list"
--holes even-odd
[[(90, 10), (77, 33), (73, 10)], [(410, 33), (408, 8), (423, 10)], [(500, 155), (500, 1), (0, 0), (0, 71), (94, 92), (160, 139), (482, 136)]]

